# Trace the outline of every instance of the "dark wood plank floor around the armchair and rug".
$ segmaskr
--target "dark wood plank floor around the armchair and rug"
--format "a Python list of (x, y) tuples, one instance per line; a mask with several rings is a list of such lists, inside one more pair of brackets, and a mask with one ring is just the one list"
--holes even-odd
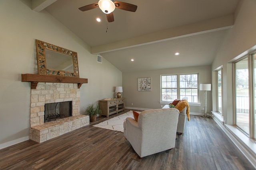
[[(127, 110), (126, 110), (127, 111)], [(120, 113), (118, 114), (120, 115)], [(110, 118), (116, 115), (110, 116)], [(109, 119), (110, 119), (109, 118)], [(96, 123), (107, 118), (100, 117)], [(0, 150), (0, 169), (253, 170), (211, 118), (190, 116), (175, 148), (140, 159), (121, 132), (92, 123), (44, 143), (25, 141)]]

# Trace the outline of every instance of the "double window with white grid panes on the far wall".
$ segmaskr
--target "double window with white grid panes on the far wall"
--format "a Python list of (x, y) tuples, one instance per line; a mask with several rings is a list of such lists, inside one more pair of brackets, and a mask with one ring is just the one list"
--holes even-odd
[(188, 97), (188, 102), (198, 103), (198, 74), (161, 75), (161, 101), (172, 102)]

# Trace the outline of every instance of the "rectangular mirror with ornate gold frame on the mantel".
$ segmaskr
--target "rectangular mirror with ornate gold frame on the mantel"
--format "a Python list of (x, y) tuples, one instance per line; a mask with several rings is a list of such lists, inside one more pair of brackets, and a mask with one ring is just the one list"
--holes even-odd
[(36, 39), (38, 74), (79, 78), (77, 53)]

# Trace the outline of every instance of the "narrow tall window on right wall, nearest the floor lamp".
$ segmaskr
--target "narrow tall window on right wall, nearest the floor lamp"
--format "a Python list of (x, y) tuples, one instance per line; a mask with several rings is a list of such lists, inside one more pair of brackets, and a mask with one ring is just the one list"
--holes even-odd
[(217, 108), (222, 115), (222, 69), (217, 71)]

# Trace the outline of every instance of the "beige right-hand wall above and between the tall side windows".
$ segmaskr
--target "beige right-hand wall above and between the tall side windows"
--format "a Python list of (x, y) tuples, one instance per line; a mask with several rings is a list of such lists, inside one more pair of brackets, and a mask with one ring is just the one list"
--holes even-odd
[[(235, 13), (234, 27), (228, 29), (220, 45), (219, 51), (212, 63), (212, 81), (215, 81), (214, 70), (223, 66), (223, 117), (227, 124), (234, 124), (233, 111), (233, 79), (232, 61), (250, 51), (255, 50), (256, 45), (256, 1), (241, 0)], [(216, 86), (213, 86), (213, 94)], [(214, 95), (213, 101), (216, 101)], [(214, 103), (214, 102), (213, 102)], [(216, 104), (213, 105), (216, 111)]]

